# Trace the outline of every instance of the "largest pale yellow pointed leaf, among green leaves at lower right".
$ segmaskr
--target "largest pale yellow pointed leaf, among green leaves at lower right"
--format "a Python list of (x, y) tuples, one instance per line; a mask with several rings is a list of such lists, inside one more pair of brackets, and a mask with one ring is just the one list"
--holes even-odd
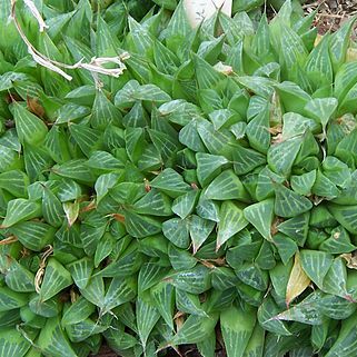
[(300, 262), (300, 255), (295, 255), (294, 266), (290, 272), (289, 281), (286, 288), (286, 305), (298, 297), (310, 284), (309, 277), (305, 274)]

